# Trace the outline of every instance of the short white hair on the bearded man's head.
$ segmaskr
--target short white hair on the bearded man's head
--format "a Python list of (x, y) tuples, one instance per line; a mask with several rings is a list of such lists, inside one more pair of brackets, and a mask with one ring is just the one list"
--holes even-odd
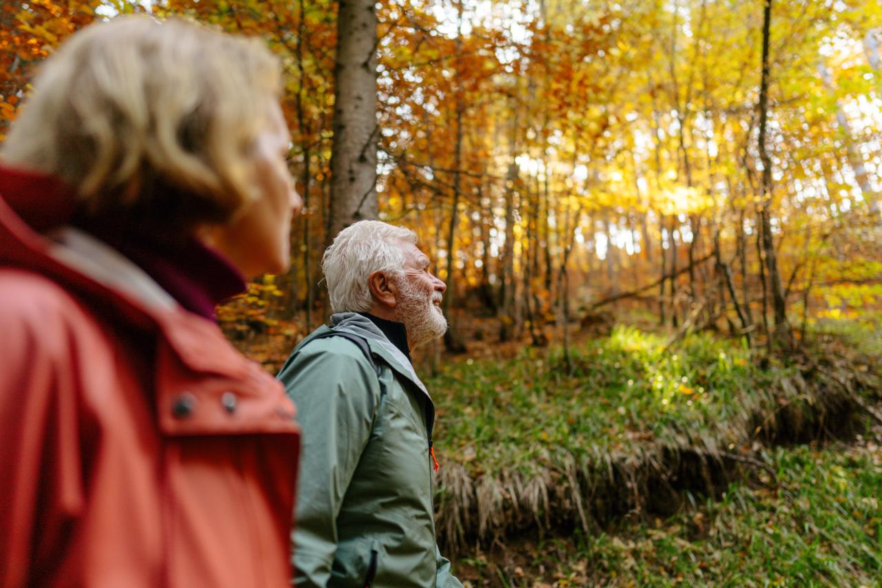
[(368, 287), (373, 272), (401, 274), (404, 252), (395, 241), (416, 242), (409, 228), (380, 220), (359, 220), (334, 237), (322, 256), (322, 272), (334, 312), (367, 312), (374, 306)]

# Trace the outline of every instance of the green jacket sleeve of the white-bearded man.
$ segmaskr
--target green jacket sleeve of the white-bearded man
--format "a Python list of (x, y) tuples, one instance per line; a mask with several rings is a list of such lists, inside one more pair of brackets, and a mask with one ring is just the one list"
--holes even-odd
[(295, 585), (324, 588), (337, 550), (337, 514), (368, 443), (380, 390), (370, 363), (345, 339), (318, 339), (296, 353), (278, 376), (302, 429)]

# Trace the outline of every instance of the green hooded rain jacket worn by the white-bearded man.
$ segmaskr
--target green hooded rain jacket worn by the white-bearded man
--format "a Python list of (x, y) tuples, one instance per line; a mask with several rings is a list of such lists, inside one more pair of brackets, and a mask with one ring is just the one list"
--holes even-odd
[(365, 339), (377, 368), (322, 326), (279, 373), (302, 428), (295, 585), (461, 587), (435, 539), (429, 392), (370, 319), (331, 322)]

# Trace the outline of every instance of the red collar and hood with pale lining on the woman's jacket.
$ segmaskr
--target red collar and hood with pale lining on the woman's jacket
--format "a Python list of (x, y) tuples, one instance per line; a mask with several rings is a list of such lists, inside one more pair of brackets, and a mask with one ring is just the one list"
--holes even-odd
[[(125, 257), (115, 256), (112, 249), (76, 229), (63, 227), (74, 205), (73, 191), (52, 176), (0, 166), (0, 266), (45, 275), (76, 293), (79, 300), (100, 301), (102, 309), (125, 324), (161, 331), (180, 361), (193, 370), (245, 376), (243, 364), (248, 362), (228, 344), (216, 324), (182, 309)], [(90, 263), (99, 250), (101, 264)], [(108, 272), (104, 262), (122, 275)], [(127, 283), (128, 279), (137, 284)]]

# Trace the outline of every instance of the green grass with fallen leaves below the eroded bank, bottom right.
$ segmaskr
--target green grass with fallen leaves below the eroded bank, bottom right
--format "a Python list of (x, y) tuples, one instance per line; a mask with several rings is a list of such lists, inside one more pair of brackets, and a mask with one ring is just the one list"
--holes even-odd
[(778, 448), (766, 456), (777, 486), (741, 481), (667, 520), (479, 552), (463, 576), (472, 585), (882, 585), (878, 443)]

